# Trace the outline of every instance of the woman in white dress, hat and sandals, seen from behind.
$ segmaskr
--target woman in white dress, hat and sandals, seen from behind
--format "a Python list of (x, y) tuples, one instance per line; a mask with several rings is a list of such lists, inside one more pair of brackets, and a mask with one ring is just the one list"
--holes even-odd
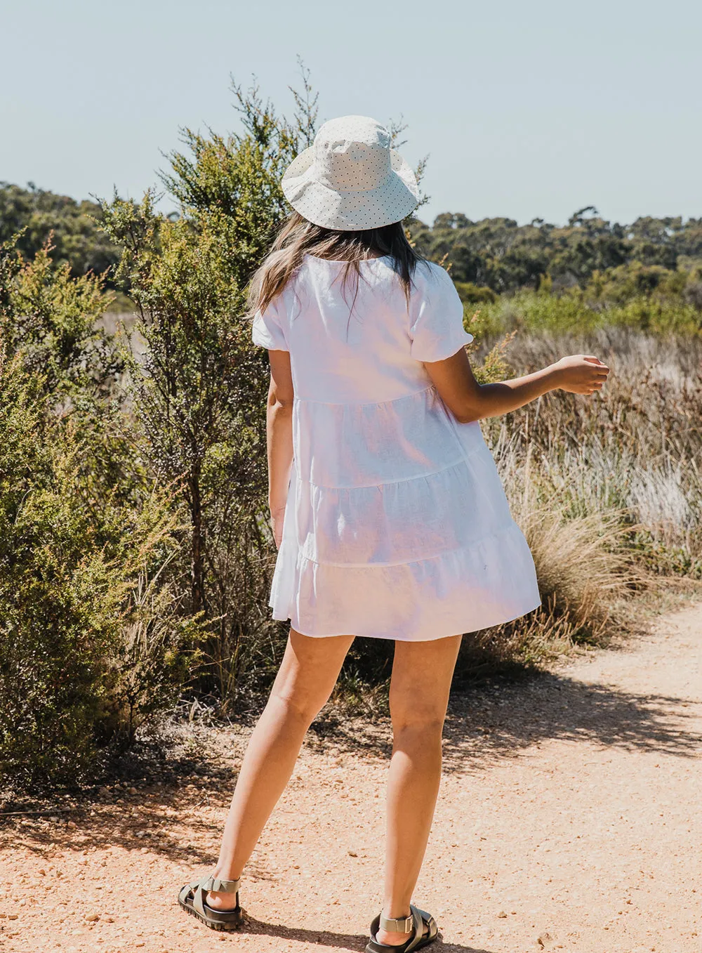
[(411, 897), (461, 634), (540, 603), (477, 421), (558, 388), (593, 394), (609, 369), (574, 355), (476, 383), (451, 278), (420, 259), (401, 224), (416, 179), (374, 120), (325, 123), (282, 185), (295, 211), (254, 276), (251, 312), (271, 363), (271, 607), (291, 633), (219, 861), (179, 901), (215, 929), (240, 923), (242, 871), (353, 638), (394, 639), (385, 892), (367, 950), (410, 951), (436, 937)]

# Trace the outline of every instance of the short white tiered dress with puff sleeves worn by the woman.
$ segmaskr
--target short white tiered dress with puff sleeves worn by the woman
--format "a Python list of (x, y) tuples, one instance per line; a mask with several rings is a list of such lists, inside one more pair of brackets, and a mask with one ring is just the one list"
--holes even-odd
[(471, 335), (451, 278), (420, 263), (410, 306), (388, 257), (307, 255), (253, 341), (291, 355), (294, 462), (271, 588), (273, 618), (307, 636), (422, 641), (540, 604), (480, 425), (458, 423), (423, 361)]

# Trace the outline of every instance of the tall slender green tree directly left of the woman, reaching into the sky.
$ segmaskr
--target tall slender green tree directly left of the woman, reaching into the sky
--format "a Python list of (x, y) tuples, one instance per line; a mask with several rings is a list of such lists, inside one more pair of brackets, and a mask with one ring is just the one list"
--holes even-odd
[[(307, 75), (304, 74), (307, 84)], [(316, 100), (296, 96), (289, 121), (256, 87), (234, 86), (242, 132), (183, 130), (163, 181), (180, 205), (170, 220), (115, 199), (104, 208), (125, 253), (118, 277), (139, 309), (143, 356), (130, 366), (134, 407), (154, 472), (180, 488), (189, 515), (191, 605), (211, 625), (223, 697), (275, 630), (266, 512), (266, 355), (251, 345), (246, 292), (288, 206), (280, 178), (313, 134)]]

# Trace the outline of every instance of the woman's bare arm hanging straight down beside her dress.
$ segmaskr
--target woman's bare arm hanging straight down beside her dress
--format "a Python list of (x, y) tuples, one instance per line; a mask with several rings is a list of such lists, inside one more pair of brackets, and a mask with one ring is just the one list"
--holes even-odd
[(268, 447), (269, 506), (275, 545), (280, 548), (283, 517), (288, 500), (292, 466), (292, 389), (291, 355), (288, 351), (269, 351), (271, 386), (266, 408)]

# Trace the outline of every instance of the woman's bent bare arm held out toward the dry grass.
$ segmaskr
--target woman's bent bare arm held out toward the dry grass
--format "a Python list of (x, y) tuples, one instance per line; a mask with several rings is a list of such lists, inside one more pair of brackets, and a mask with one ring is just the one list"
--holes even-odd
[(609, 367), (592, 355), (562, 357), (555, 364), (496, 384), (478, 384), (466, 351), (445, 360), (425, 361), (431, 382), (460, 423), (500, 416), (535, 400), (550, 391), (593, 394), (602, 389)]

